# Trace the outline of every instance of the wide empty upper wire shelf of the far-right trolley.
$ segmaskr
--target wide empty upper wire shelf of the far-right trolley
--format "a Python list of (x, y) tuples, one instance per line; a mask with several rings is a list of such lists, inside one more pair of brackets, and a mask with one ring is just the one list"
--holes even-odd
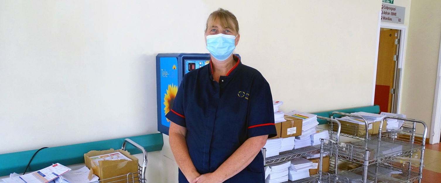
[(325, 151), (329, 151), (328, 153), (333, 155), (338, 151), (339, 158), (362, 163), (366, 161), (366, 150), (369, 150), (367, 161), (368, 165), (372, 165), (395, 157), (409, 156), (421, 151), (422, 147), (419, 144), (410, 144), (399, 140), (383, 138), (378, 141), (377, 138), (373, 138), (349, 143), (344, 147), (334, 143), (325, 144)]

